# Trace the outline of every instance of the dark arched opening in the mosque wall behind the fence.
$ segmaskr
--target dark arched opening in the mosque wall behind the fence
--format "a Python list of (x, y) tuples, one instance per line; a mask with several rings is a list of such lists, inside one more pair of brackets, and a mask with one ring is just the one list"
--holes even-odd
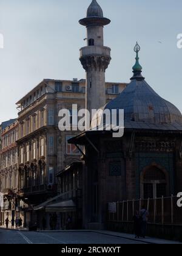
[(166, 197), (167, 174), (157, 166), (150, 166), (141, 174), (141, 197), (143, 199)]

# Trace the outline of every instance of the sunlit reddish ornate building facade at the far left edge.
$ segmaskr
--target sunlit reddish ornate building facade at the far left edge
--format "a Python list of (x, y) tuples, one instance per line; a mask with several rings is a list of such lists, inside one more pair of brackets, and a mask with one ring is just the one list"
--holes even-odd
[(4, 194), (4, 209), (1, 209), (0, 222), (9, 220), (19, 213), (18, 193), (18, 121), (12, 119), (1, 124), (0, 150), (0, 191)]

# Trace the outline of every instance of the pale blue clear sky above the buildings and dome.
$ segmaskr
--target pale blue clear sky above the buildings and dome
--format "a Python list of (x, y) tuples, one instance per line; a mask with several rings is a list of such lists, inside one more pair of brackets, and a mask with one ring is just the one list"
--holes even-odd
[[(0, 123), (16, 118), (16, 102), (42, 79), (78, 79), (91, 0), (0, 0)], [(112, 49), (107, 82), (129, 82), (141, 46), (140, 64), (148, 84), (182, 112), (181, 0), (98, 0), (104, 16), (104, 44)], [(1, 42), (0, 42), (1, 43)]]

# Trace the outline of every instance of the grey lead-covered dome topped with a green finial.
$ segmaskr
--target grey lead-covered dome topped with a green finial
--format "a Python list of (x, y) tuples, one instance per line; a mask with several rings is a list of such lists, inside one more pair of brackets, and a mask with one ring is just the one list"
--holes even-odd
[(101, 108), (92, 119), (91, 129), (100, 126), (104, 110), (124, 110), (124, 126), (138, 129), (182, 129), (182, 115), (175, 105), (161, 98), (141, 76), (138, 52), (131, 82), (116, 99)]

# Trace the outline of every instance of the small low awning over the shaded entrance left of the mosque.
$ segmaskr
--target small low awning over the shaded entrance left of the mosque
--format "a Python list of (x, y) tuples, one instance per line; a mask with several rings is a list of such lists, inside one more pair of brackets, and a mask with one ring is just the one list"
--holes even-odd
[(45, 212), (75, 212), (76, 205), (73, 200), (62, 201), (56, 204), (50, 204), (45, 207)]

